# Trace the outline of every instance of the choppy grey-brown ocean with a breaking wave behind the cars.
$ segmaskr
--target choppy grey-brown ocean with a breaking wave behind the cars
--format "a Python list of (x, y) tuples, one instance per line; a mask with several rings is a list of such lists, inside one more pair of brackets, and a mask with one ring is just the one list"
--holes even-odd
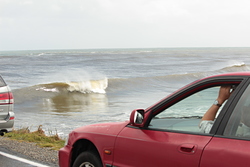
[(250, 48), (135, 48), (0, 51), (13, 91), (15, 129), (73, 129), (129, 119), (197, 79), (250, 71)]

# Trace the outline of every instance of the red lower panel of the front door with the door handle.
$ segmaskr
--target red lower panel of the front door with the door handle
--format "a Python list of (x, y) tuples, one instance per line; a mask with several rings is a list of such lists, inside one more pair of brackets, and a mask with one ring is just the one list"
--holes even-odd
[(211, 138), (126, 127), (116, 140), (113, 165), (198, 167), (202, 150)]

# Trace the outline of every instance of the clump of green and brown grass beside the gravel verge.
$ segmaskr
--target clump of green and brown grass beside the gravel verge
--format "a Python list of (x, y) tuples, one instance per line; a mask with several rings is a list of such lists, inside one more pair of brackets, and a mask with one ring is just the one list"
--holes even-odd
[(53, 150), (59, 150), (65, 143), (58, 134), (46, 136), (41, 125), (34, 132), (30, 132), (29, 128), (22, 128), (5, 133), (4, 136), (18, 141), (33, 142), (40, 147), (51, 147)]

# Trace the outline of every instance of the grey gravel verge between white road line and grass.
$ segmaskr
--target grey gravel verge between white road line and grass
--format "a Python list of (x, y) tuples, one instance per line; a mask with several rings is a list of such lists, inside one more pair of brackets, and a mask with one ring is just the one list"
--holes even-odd
[(46, 147), (39, 147), (36, 143), (17, 141), (1, 136), (0, 146), (22, 158), (44, 163), (51, 167), (59, 166), (58, 151)]

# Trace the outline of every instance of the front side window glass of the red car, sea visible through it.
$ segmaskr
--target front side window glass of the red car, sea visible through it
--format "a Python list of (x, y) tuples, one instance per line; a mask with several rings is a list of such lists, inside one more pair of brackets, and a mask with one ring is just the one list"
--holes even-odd
[(179, 101), (156, 115), (151, 120), (149, 128), (200, 133), (201, 118), (214, 103), (219, 88), (208, 88)]

